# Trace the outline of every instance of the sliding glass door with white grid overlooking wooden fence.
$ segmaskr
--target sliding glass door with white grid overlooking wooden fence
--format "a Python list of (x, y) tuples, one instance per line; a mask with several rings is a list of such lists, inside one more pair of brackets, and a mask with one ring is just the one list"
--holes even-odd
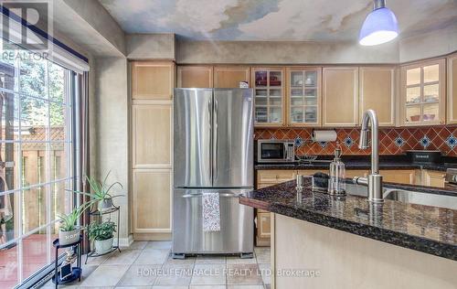
[(52, 262), (73, 206), (75, 73), (14, 45), (0, 59), (0, 288)]

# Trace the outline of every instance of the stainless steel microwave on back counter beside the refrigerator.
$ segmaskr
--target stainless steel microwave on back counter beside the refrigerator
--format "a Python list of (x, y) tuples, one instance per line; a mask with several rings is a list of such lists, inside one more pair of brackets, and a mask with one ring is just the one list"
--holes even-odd
[(258, 163), (292, 163), (295, 161), (295, 144), (287, 140), (258, 140)]

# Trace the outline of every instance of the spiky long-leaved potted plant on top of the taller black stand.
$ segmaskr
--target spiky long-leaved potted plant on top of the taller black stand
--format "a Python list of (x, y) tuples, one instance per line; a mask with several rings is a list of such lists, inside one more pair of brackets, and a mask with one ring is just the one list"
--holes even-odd
[(104, 177), (103, 181), (99, 181), (94, 177), (86, 177), (89, 182), (91, 193), (85, 193), (81, 191), (75, 191), (76, 193), (82, 194), (84, 196), (89, 196), (90, 203), (97, 203), (97, 209), (99, 211), (105, 211), (112, 208), (112, 199), (123, 197), (122, 195), (112, 195), (112, 188), (115, 186), (122, 187), (120, 182), (114, 182), (112, 184), (107, 184), (107, 179), (110, 176), (111, 171)]

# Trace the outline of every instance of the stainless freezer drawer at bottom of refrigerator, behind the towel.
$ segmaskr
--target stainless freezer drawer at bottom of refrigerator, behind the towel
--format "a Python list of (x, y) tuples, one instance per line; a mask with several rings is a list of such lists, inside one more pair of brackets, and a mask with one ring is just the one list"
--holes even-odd
[[(203, 230), (203, 192), (219, 194), (220, 231)], [(253, 209), (239, 204), (244, 190), (175, 189), (173, 211), (173, 252), (253, 252)]]

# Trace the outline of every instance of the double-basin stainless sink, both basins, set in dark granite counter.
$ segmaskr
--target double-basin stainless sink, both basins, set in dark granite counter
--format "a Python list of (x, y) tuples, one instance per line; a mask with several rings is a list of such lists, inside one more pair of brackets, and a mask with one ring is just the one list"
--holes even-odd
[[(355, 184), (345, 184), (346, 194), (368, 197), (368, 188)], [(433, 206), (447, 209), (457, 209), (457, 197), (449, 195), (431, 194), (420, 191), (383, 187), (383, 198), (397, 200), (404, 203)]]

